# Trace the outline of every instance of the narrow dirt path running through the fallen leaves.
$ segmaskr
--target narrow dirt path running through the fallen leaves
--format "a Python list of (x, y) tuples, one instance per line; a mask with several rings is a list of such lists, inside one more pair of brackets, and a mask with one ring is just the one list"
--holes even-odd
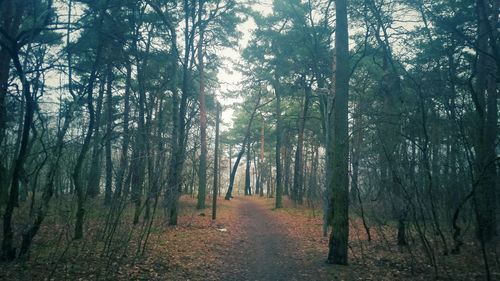
[[(231, 254), (226, 257), (226, 275), (222, 280), (306, 280), (309, 269), (296, 251), (296, 241), (287, 236), (284, 225), (252, 198), (235, 198), (238, 201), (239, 239), (234, 241)], [(316, 279), (315, 279), (316, 280)]]

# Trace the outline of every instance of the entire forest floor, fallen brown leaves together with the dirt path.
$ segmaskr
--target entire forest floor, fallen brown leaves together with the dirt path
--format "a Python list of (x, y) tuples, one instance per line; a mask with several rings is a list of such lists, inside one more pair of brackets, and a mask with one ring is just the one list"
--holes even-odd
[[(285, 200), (285, 207), (277, 210), (274, 199), (221, 198), (216, 221), (211, 220), (210, 208), (203, 213), (194, 207), (193, 198), (182, 198), (176, 227), (158, 219), (145, 254), (139, 254), (143, 244), (130, 239), (135, 236), (127, 231), (118, 233), (128, 235), (127, 243), (104, 251), (98, 216), (89, 216), (87, 231), (95, 233), (83, 241), (61, 239), (64, 226), (49, 219), (34, 241), (30, 260), (0, 263), (0, 280), (436, 279), (422, 249), (415, 246), (418, 241), (411, 241), (412, 247), (393, 245), (390, 226), (373, 227), (373, 241), (368, 242), (361, 222), (351, 219), (350, 264), (336, 266), (325, 263), (328, 238), (322, 235), (321, 212), (314, 206), (294, 206)], [(485, 280), (477, 249), (471, 242), (460, 255), (443, 256), (436, 250), (437, 280)], [(494, 251), (490, 261), (492, 280), (500, 280)]]

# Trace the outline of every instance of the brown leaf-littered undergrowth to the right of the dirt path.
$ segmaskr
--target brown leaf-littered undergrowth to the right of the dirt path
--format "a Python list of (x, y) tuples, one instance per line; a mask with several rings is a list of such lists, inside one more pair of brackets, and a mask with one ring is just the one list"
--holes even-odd
[[(260, 202), (273, 210), (273, 216), (286, 226), (290, 238), (298, 241), (297, 254), (304, 256), (304, 266), (317, 267), (318, 272), (331, 280), (486, 280), (480, 245), (473, 238), (463, 246), (460, 254), (443, 255), (438, 236), (428, 237), (435, 251), (435, 270), (416, 231), (408, 230), (408, 246), (397, 246), (393, 225), (374, 224), (370, 225), (372, 241), (368, 242), (362, 220), (352, 214), (354, 212), (349, 222), (349, 266), (321, 265), (328, 254), (328, 237), (323, 237), (321, 212), (313, 212), (310, 207), (286, 199), (284, 208), (278, 210), (274, 209), (273, 199), (261, 199)], [(488, 249), (492, 280), (500, 280), (498, 250), (498, 243), (494, 242)]]

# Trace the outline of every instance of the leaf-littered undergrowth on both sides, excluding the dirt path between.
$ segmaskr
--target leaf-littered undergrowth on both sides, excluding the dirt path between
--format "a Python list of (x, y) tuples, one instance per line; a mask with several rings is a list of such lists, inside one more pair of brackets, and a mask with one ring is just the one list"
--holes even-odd
[[(361, 219), (355, 212), (350, 220), (349, 266), (325, 264), (328, 237), (322, 234), (319, 208), (295, 205), (285, 200), (285, 207), (274, 209), (274, 199), (244, 197), (218, 201), (218, 218), (211, 219), (210, 206), (195, 209), (195, 200), (183, 197), (178, 226), (168, 226), (163, 210), (158, 209), (151, 226), (145, 251), (143, 230), (147, 224), (133, 225), (132, 208), (123, 212), (112, 243), (103, 237), (106, 209), (88, 206), (86, 236), (71, 239), (72, 210), (58, 208), (48, 216), (27, 261), (0, 263), (0, 280), (220, 280), (224, 273), (244, 268), (232, 257), (241, 252), (248, 237), (241, 219), (240, 206), (252, 200), (278, 222), (283, 239), (293, 245), (289, 254), (299, 261), (308, 280), (435, 280), (436, 271), (424, 254), (421, 242), (410, 228), (409, 246), (395, 245), (396, 233), (390, 224), (368, 222), (372, 241), (368, 242)], [(207, 200), (208, 202), (208, 200)], [(22, 229), (22, 225), (18, 225)], [(435, 247), (437, 280), (485, 280), (480, 246), (473, 238), (459, 255), (439, 252)], [(451, 240), (450, 240), (451, 241)], [(489, 248), (492, 280), (500, 280), (495, 247)], [(262, 257), (258, 257), (262, 258)]]

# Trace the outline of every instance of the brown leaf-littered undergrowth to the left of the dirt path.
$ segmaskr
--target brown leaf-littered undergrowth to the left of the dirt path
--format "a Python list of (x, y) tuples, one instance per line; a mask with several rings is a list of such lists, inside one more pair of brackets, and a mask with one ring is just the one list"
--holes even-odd
[(71, 239), (70, 210), (51, 214), (34, 240), (30, 259), (0, 263), (0, 280), (218, 280), (223, 257), (232, 250), (228, 237), (240, 235), (237, 202), (218, 202), (218, 218), (212, 221), (211, 206), (198, 211), (195, 199), (182, 197), (175, 227), (165, 223), (163, 210), (157, 210), (144, 253), (138, 241), (144, 241), (148, 224), (134, 226), (132, 209), (123, 212), (107, 248), (101, 235), (103, 207), (91, 207), (80, 241)]

